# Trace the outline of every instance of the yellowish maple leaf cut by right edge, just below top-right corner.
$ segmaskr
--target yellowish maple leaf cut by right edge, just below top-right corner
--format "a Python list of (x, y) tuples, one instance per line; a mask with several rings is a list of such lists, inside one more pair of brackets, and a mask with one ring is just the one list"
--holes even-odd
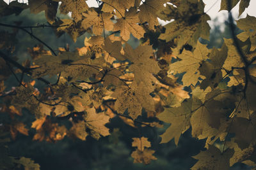
[(246, 39), (250, 38), (251, 51), (256, 49), (256, 30), (252, 29), (256, 27), (255, 23), (256, 23), (256, 18), (250, 15), (246, 15), (246, 18), (237, 20), (237, 27), (239, 27), (239, 29), (242, 29), (244, 31), (238, 34), (237, 37), (242, 41), (246, 41)]

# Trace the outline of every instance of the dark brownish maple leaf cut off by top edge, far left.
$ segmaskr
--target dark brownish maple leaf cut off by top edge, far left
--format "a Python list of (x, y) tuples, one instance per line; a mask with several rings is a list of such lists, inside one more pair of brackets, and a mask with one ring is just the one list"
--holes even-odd
[(45, 11), (45, 18), (52, 24), (56, 17), (58, 3), (51, 0), (29, 0), (28, 1), (31, 13), (40, 13), (40, 11)]

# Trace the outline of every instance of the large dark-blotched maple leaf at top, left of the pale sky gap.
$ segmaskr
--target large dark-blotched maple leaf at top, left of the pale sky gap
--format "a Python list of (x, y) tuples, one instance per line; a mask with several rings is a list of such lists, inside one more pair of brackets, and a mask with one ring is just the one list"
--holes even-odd
[[(209, 39), (210, 26), (207, 20), (211, 18), (204, 13), (203, 1), (183, 0), (177, 11), (170, 10), (170, 18), (175, 20), (164, 25), (166, 31), (159, 36), (160, 39), (171, 41), (177, 38), (177, 48), (183, 45), (195, 46), (198, 38)], [(167, 14), (167, 15), (169, 15)]]

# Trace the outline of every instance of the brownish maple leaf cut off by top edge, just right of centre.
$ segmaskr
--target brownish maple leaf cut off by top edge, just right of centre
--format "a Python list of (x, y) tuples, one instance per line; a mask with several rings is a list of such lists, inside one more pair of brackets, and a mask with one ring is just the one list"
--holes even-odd
[(148, 22), (149, 29), (154, 29), (154, 25), (158, 25), (159, 22), (157, 20), (157, 11), (163, 8), (163, 4), (167, 3), (167, 0), (154, 1), (154, 0), (146, 0), (139, 7), (139, 18), (140, 22)]

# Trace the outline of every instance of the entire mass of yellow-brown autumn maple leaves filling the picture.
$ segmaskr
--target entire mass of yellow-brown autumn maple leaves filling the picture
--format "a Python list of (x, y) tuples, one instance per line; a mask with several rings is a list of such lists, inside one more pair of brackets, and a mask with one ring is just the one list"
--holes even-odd
[[(236, 37), (230, 15), (234, 38), (225, 39), (220, 49), (209, 50), (198, 41), (209, 39), (210, 29), (202, 0), (97, 3), (99, 7), (89, 8), (84, 0), (0, 1), (0, 17), (19, 15), (29, 8), (31, 13), (45, 11), (48, 21), (36, 26), (0, 23), (0, 27), (13, 28), (0, 31), (0, 111), (9, 115), (8, 121), (0, 122), (1, 131), (15, 139), (18, 132), (29, 135), (35, 129), (34, 140), (56, 142), (66, 136), (86, 140), (115, 133), (105, 126), (113, 117), (154, 132), (166, 122), (170, 127), (161, 134), (161, 143), (174, 138), (178, 145), (180, 135), (189, 128), (193, 137), (206, 139), (207, 150), (194, 157), (198, 162), (191, 169), (229, 169), (236, 162), (256, 166), (256, 18), (247, 15), (237, 20), (243, 32)], [(230, 11), (236, 3), (222, 0), (221, 10)], [(240, 14), (248, 4), (241, 1)], [(56, 17), (58, 8), (72, 18)], [(174, 21), (163, 27), (157, 17)], [(67, 33), (74, 41), (84, 32), (92, 36), (75, 51), (70, 52), (68, 46), (54, 50), (33, 34), (36, 27), (51, 27), (57, 37)], [(31, 59), (21, 64), (12, 55), (18, 31), (40, 43), (28, 49)], [(140, 39), (135, 49), (127, 43), (131, 36)], [(182, 85), (176, 82), (177, 74), (183, 75)], [(11, 75), (18, 85), (5, 90)], [(30, 80), (24, 81), (24, 76)], [(56, 76), (56, 82), (45, 76)], [(45, 83), (44, 90), (35, 86), (40, 81)], [(20, 121), (22, 108), (35, 115), (30, 128)], [(64, 120), (71, 125), (61, 124)], [(148, 138), (140, 136), (132, 138), (137, 148), (131, 156), (134, 162), (149, 164), (156, 160), (154, 150), (148, 149)], [(7, 154), (3, 157), (11, 164), (4, 160), (1, 167), (39, 168), (29, 159)]]

